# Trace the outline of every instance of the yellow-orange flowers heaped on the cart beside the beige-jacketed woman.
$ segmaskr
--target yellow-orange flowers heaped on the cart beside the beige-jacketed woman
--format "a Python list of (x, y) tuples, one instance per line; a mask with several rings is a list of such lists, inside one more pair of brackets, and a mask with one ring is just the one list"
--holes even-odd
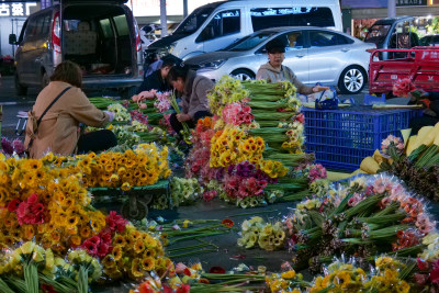
[(83, 173), (85, 187), (122, 188), (125, 191), (155, 184), (171, 173), (168, 148), (159, 149), (154, 144), (143, 144), (125, 153), (77, 156), (76, 167)]

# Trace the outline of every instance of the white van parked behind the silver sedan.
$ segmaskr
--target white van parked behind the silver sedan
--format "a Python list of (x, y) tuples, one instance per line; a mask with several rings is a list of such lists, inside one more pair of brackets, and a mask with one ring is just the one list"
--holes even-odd
[(185, 60), (224, 48), (256, 31), (279, 26), (319, 26), (341, 32), (339, 0), (234, 0), (205, 4), (145, 53), (147, 59), (172, 54)]

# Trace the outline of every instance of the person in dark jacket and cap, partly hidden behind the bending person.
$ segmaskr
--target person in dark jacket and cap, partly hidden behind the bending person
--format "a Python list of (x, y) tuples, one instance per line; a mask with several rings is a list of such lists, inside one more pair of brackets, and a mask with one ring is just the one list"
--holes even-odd
[(170, 91), (172, 88), (167, 81), (169, 70), (175, 65), (175, 60), (171, 58), (164, 58), (160, 69), (154, 71), (151, 75), (147, 76), (142, 82), (140, 87), (137, 89), (137, 94), (143, 91), (156, 90), (159, 92)]

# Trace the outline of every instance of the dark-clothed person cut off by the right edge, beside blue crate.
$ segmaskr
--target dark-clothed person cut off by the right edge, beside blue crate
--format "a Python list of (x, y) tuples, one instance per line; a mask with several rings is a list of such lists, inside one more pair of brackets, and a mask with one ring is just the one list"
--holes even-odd
[(415, 98), (408, 102), (408, 104), (420, 103), (425, 106), (424, 115), (420, 117), (414, 117), (409, 122), (409, 127), (412, 128), (410, 135), (418, 134), (419, 129), (424, 126), (434, 126), (439, 122), (439, 92), (436, 91), (425, 91), (421, 94), (419, 101)]

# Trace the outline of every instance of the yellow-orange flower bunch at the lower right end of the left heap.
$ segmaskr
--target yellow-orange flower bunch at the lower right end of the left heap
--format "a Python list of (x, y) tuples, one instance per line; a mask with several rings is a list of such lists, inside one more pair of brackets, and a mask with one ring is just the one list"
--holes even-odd
[(150, 271), (162, 275), (175, 270), (173, 262), (165, 257), (160, 240), (130, 225), (122, 234), (115, 235), (112, 253), (102, 259), (102, 266), (104, 273), (112, 279), (127, 275), (139, 280)]

